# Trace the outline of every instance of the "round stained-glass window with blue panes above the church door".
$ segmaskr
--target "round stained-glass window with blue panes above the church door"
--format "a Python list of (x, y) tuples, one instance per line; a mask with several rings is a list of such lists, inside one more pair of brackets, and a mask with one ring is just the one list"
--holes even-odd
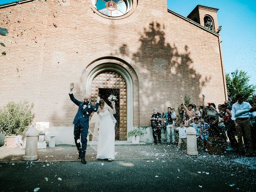
[(102, 14), (118, 17), (132, 8), (132, 0), (92, 0), (93, 6)]

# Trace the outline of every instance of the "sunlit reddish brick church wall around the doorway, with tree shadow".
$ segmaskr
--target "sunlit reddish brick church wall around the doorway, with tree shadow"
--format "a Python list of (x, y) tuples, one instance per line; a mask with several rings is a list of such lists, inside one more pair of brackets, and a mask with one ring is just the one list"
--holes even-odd
[(150, 125), (153, 108), (177, 109), (181, 94), (196, 104), (201, 94), (206, 102), (224, 102), (218, 36), (168, 12), (166, 2), (143, 1), (136, 16), (118, 24), (94, 18), (81, 0), (66, 3), (33, 1), (0, 9), (1, 26), (9, 30), (0, 37), (6, 45), (0, 107), (27, 99), (35, 104), (34, 121), (71, 126), (77, 107), (69, 99), (69, 84), (75, 83), (80, 99), (86, 58), (106, 50), (121, 52), (140, 68), (143, 81), (134, 100), (141, 126)]

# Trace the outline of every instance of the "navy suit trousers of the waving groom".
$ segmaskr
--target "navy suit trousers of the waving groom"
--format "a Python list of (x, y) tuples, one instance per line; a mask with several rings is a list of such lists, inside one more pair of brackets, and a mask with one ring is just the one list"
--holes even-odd
[[(80, 123), (80, 120), (74, 125), (74, 139), (75, 139), (77, 150), (81, 158), (84, 158), (86, 153), (88, 128), (89, 128), (89, 124), (82, 125)], [(81, 135), (81, 139), (80, 139), (80, 135)], [(82, 147), (78, 139), (81, 141)]]

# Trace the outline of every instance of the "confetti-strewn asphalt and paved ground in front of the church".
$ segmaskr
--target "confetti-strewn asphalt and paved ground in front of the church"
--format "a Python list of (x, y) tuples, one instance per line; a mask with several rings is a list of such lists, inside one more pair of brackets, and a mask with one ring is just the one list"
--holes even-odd
[(84, 165), (77, 159), (75, 146), (38, 149), (38, 160), (32, 162), (23, 161), (24, 149), (1, 147), (0, 191), (256, 191), (255, 157), (205, 151), (188, 156), (175, 148), (118, 145), (116, 159), (108, 162), (96, 160), (95, 151), (88, 147)]

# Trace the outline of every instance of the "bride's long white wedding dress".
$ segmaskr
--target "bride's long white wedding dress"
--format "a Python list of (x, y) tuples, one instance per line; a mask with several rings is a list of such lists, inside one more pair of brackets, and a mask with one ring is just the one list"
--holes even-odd
[(108, 109), (100, 110), (100, 128), (98, 131), (97, 159), (114, 160), (115, 152), (115, 128)]

